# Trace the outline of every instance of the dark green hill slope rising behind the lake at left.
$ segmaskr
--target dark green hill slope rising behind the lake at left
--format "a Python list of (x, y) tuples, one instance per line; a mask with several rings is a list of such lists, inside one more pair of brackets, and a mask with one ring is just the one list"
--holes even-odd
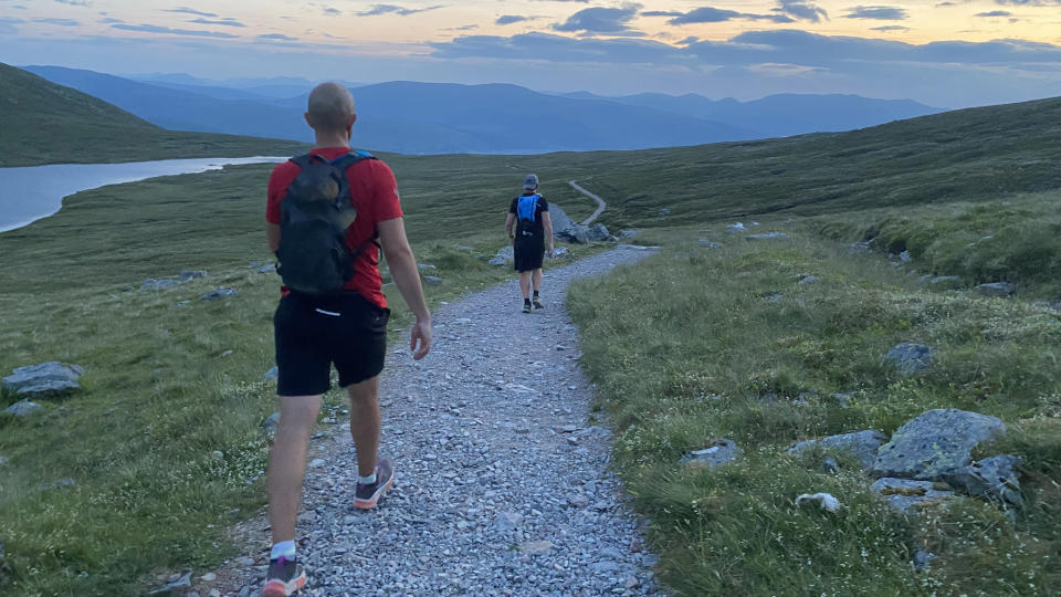
[(294, 154), (302, 144), (179, 133), (0, 63), (0, 167)]

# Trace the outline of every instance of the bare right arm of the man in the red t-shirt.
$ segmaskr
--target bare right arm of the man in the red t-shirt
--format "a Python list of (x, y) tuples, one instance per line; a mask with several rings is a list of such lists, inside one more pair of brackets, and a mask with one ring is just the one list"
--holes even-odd
[(376, 226), (376, 230), (379, 232), (384, 254), (387, 255), (387, 264), (390, 265), (390, 275), (393, 276), (401, 297), (417, 317), (417, 323), (412, 326), (410, 348), (413, 350), (412, 357), (419, 360), (431, 349), (431, 313), (423, 300), (417, 260), (409, 247), (409, 239), (406, 238), (405, 220), (385, 220)]

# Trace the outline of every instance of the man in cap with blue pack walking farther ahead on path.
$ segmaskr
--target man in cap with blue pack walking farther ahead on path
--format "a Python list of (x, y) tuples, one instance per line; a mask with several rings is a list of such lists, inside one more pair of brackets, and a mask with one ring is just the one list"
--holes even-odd
[[(545, 240), (549, 241), (553, 256), (553, 220), (549, 203), (538, 195), (537, 175), (527, 175), (523, 195), (512, 200), (505, 230), (512, 241), (515, 270), (519, 272), (519, 290), (523, 291), (523, 312), (530, 313), (530, 289), (534, 287), (534, 308), (542, 308), (538, 291), (542, 290), (542, 261), (545, 256)], [(513, 231), (513, 224), (516, 224)]]

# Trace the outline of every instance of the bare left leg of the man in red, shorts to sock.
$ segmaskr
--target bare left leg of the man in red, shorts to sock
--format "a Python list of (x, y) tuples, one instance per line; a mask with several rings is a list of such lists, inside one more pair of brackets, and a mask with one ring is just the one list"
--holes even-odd
[(306, 444), (321, 412), (321, 396), (281, 396), (280, 425), (269, 455), (269, 519), (273, 543), (295, 538), (295, 519), (306, 474)]

